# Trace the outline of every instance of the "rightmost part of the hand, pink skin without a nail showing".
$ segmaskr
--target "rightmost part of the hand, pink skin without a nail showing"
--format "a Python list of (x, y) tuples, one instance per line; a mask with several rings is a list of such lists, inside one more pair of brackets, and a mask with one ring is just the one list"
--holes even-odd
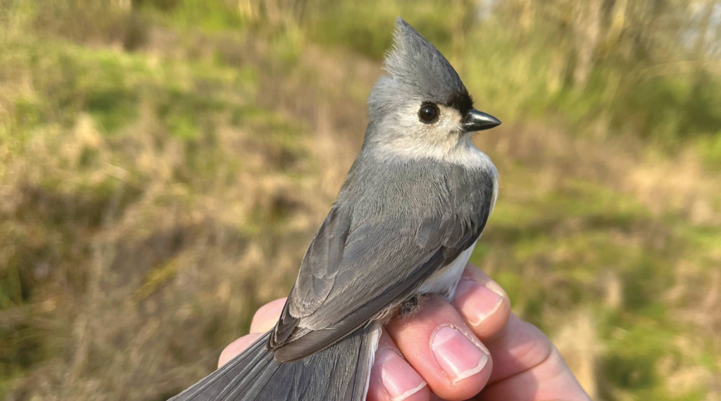
[(590, 400), (547, 336), (516, 315), (486, 345), (494, 368), (482, 400)]

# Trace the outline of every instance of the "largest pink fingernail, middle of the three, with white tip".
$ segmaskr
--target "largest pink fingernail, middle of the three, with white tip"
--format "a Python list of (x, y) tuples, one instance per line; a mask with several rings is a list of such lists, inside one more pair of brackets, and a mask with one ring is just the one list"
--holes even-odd
[(453, 382), (477, 374), (488, 361), (488, 356), (455, 328), (443, 326), (430, 340), (435, 361)]

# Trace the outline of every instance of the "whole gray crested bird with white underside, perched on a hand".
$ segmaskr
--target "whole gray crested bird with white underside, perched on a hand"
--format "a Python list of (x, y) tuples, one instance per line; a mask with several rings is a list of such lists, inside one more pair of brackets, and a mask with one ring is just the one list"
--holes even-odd
[(497, 198), (448, 60), (403, 19), (368, 99), (361, 153), (273, 330), (174, 401), (365, 400), (381, 325), (417, 297), (451, 299)]

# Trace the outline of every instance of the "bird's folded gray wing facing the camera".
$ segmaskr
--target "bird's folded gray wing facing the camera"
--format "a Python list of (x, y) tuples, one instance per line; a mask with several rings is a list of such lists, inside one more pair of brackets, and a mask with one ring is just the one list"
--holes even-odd
[(352, 206), (334, 205), (269, 338), (275, 359), (293, 361), (320, 351), (411, 297), (424, 279), (477, 240), (490, 209), (489, 197), (482, 198), (458, 213), (415, 220), (376, 215), (353, 229)]

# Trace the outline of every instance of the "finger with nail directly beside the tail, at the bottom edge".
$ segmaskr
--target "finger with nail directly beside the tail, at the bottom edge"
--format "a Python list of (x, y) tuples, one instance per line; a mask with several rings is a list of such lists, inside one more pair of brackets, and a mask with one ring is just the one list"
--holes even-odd
[(376, 350), (367, 401), (428, 401), (430, 389), (423, 377), (403, 358), (386, 330)]

